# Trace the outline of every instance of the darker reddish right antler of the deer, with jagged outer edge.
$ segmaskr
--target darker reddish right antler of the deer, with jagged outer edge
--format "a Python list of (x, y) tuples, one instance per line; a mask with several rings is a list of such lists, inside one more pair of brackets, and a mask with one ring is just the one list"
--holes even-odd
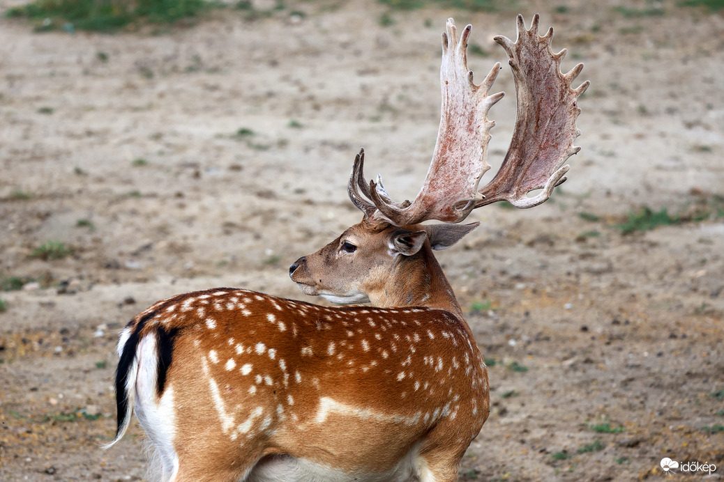
[[(505, 49), (515, 79), (518, 113), (513, 139), (500, 171), (481, 189), (481, 207), (507, 200), (516, 207), (534, 207), (546, 201), (555, 186), (565, 181), (571, 155), (580, 150), (573, 146), (581, 131), (576, 118), (581, 109), (576, 102), (586, 91), (586, 81), (576, 89), (571, 82), (581, 73), (578, 64), (566, 74), (560, 72), (565, 48), (553, 53), (552, 27), (542, 37), (538, 35), (540, 16), (535, 14), (531, 28), (526, 29), (523, 16), (518, 15), (518, 38), (498, 36), (494, 40)], [(535, 197), (526, 194), (543, 189)]]

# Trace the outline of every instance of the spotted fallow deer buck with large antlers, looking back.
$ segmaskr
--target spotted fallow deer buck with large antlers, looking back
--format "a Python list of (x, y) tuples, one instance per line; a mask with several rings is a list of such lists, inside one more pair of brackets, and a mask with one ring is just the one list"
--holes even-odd
[[(327, 308), (236, 288), (174, 296), (122, 331), (117, 442), (135, 413), (160, 455), (164, 480), (458, 480), (458, 465), (489, 413), (488, 374), (432, 250), (479, 223), (459, 223), (503, 199), (544, 202), (578, 147), (576, 101), (589, 82), (560, 72), (553, 30), (518, 16), (518, 40), (496, 37), (518, 96), (515, 133), (492, 181), (486, 162), (493, 66), (473, 83), (452, 19), (442, 34), (442, 119), (414, 202), (393, 202), (355, 158), (348, 192), (363, 220), (290, 267)], [(542, 191), (535, 197), (527, 194)]]

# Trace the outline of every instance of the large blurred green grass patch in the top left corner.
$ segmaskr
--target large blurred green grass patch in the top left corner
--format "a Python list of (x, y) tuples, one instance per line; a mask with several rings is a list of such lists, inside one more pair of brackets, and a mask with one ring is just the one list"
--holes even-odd
[(8, 9), (5, 16), (34, 20), (38, 31), (109, 33), (139, 22), (171, 24), (214, 5), (204, 0), (35, 0)]

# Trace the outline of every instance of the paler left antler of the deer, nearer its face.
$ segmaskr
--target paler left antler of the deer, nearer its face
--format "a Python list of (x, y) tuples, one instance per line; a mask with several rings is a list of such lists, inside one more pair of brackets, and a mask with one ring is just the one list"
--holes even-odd
[(392, 201), (379, 177), (370, 181), (369, 192), (359, 183), (376, 207), (374, 218), (395, 225), (432, 219), (459, 223), (482, 199), (478, 183), (490, 168), (485, 158), (489, 131), (494, 125), (487, 119), (487, 113), (503, 94), (488, 95), (500, 64), (493, 66), (480, 85), (473, 82), (473, 72), (468, 70), (467, 63), (471, 29), (468, 25), (458, 38), (455, 22), (448, 19), (442, 34), (440, 126), (432, 162), (415, 200)]

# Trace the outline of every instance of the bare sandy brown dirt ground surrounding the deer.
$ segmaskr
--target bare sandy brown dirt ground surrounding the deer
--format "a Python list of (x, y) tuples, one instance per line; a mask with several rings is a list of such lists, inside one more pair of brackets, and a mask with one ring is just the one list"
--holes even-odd
[[(534, 12), (564, 70), (586, 64), (583, 149), (550, 202), (473, 212), (481, 227), (439, 254), (490, 365), (460, 480), (657, 481), (663, 457), (720, 480), (724, 14), (668, 0), (287, 1), (115, 35), (2, 18), (0, 480), (145, 480), (135, 423), (98, 448), (119, 330), (194, 289), (308, 299), (287, 267), (361, 218), (345, 190), (358, 148), (396, 199), (424, 178), (447, 17), (473, 24), (482, 79), (506, 62), (492, 37)], [(510, 72), (496, 85), (494, 166), (515, 119)], [(684, 222), (623, 235), (642, 207)]]

